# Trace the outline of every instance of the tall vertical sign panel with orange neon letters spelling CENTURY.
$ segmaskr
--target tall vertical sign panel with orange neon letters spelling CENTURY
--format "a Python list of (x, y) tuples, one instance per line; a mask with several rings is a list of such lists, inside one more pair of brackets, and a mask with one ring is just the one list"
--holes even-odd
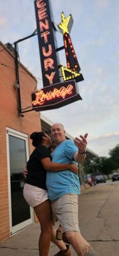
[(34, 1), (34, 5), (38, 28), (43, 87), (45, 87), (60, 82), (59, 70), (48, 0), (36, 0)]

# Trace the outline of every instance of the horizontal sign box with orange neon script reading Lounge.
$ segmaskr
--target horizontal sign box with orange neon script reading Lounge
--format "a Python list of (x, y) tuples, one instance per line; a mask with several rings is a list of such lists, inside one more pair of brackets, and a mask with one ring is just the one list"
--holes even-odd
[(74, 80), (47, 86), (32, 93), (32, 109), (44, 111), (56, 109), (81, 100)]

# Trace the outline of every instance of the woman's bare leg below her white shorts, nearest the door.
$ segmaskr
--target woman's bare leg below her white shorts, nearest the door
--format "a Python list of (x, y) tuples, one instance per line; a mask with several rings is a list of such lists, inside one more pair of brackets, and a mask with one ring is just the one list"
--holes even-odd
[(50, 201), (46, 200), (42, 204), (37, 205), (34, 207), (34, 211), (41, 225), (41, 234), (39, 236), (39, 255), (48, 256), (53, 225)]

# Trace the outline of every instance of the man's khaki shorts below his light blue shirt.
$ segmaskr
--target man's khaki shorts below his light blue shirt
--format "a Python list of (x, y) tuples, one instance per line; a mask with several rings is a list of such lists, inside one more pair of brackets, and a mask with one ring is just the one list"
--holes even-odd
[(78, 223), (78, 195), (66, 194), (53, 201), (52, 218), (53, 222), (59, 220), (62, 226), (62, 233), (66, 231), (80, 232)]

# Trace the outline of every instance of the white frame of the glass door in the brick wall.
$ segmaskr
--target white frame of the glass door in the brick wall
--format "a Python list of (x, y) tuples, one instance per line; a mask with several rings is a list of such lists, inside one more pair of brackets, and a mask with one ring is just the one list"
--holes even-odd
[(7, 163), (8, 163), (8, 201), (9, 201), (9, 220), (10, 220), (10, 236), (20, 231), (22, 228), (27, 227), (31, 223), (34, 223), (34, 211), (29, 206), (31, 218), (29, 220), (25, 220), (22, 223), (19, 223), (12, 227), (12, 212), (11, 212), (11, 182), (10, 182), (10, 152), (9, 152), (9, 135), (20, 138), (25, 141), (25, 152), (26, 159), (29, 160), (29, 143), (28, 143), (28, 135), (22, 132), (18, 132), (14, 129), (6, 127), (6, 151), (7, 151)]

